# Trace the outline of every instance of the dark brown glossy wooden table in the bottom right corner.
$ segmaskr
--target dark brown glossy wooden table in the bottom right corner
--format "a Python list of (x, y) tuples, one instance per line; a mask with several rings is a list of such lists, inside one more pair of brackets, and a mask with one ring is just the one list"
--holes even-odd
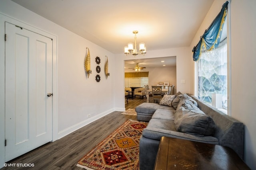
[(228, 147), (162, 137), (154, 170), (170, 169), (250, 170)]

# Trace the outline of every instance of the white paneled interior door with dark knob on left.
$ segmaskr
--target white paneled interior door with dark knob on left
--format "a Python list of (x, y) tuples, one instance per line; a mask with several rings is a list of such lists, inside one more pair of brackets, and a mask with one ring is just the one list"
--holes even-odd
[(5, 23), (5, 161), (52, 141), (52, 39)]

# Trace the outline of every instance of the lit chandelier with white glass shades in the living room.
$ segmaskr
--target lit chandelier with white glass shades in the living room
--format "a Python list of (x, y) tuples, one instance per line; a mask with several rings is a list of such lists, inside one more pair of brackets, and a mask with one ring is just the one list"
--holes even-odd
[(146, 47), (145, 47), (145, 43), (140, 43), (139, 44), (139, 52), (137, 52), (137, 44), (136, 44), (136, 33), (138, 33), (138, 31), (133, 31), (132, 33), (134, 33), (134, 39), (135, 39), (135, 43), (134, 43), (134, 48), (133, 48), (133, 43), (128, 43), (128, 46), (124, 47), (124, 54), (126, 55), (144, 55), (146, 53)]

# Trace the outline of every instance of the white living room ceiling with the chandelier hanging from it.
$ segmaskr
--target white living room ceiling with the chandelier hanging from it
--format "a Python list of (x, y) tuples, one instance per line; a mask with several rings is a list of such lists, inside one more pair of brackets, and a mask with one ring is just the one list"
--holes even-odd
[(120, 54), (134, 43), (134, 30), (137, 44), (144, 42), (147, 51), (189, 46), (214, 0), (12, 1)]

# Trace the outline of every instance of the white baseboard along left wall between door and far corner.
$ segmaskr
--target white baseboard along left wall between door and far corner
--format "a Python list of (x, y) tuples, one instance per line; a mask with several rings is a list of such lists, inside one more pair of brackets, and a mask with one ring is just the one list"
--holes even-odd
[(93, 117), (90, 117), (89, 119), (86, 119), (80, 123), (77, 123), (76, 125), (73, 125), (71, 127), (68, 127), (62, 131), (60, 131), (58, 133), (58, 139), (61, 139), (62, 137), (65, 137), (66, 135), (92, 123), (93, 121), (96, 121), (97, 119), (100, 119), (101, 117), (105, 116), (105, 115), (108, 115), (109, 113), (112, 113), (113, 111), (115, 111), (115, 109), (110, 109), (110, 110), (107, 110), (107, 111), (104, 111), (96, 116), (93, 116)]

